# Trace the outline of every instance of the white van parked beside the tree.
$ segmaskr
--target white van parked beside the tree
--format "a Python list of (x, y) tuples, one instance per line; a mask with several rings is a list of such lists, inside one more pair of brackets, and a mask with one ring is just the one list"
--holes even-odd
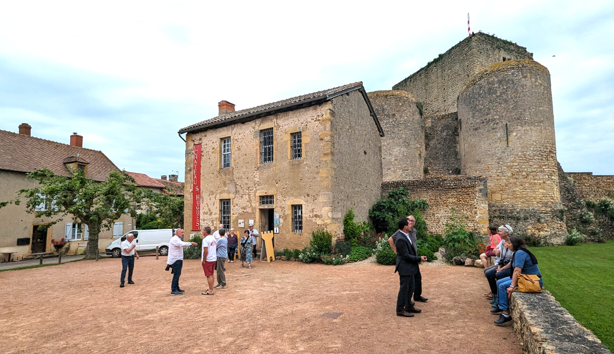
[(115, 258), (122, 257), (122, 242), (125, 241), (126, 235), (131, 233), (136, 241), (137, 252), (155, 251), (155, 247), (159, 247), (160, 255), (168, 255), (168, 244), (175, 233), (174, 228), (161, 228), (159, 230), (132, 230), (126, 232), (121, 238), (115, 239), (105, 250), (107, 255)]

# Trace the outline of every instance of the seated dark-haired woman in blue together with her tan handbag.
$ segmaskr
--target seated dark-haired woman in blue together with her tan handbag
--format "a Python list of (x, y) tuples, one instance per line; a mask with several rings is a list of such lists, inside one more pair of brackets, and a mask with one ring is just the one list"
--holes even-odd
[(510, 243), (512, 250), (515, 252), (511, 258), (511, 266), (514, 269), (514, 273), (511, 277), (497, 281), (499, 307), (491, 311), (493, 314), (503, 311), (503, 314), (495, 321), (497, 325), (511, 321), (508, 295), (516, 287), (518, 287), (519, 291), (527, 293), (541, 293), (543, 288), (542, 273), (537, 266), (537, 258), (527, 249), (524, 239), (518, 236), (511, 236)]

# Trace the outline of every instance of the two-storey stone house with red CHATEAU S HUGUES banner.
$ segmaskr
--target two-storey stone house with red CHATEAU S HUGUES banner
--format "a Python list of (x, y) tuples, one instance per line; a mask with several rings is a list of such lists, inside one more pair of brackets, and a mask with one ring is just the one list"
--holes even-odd
[[(239, 235), (253, 221), (277, 231), (276, 248), (303, 248), (311, 232), (340, 236), (380, 195), (384, 135), (362, 83), (235, 111), (179, 130), (186, 134), (185, 227), (219, 223)], [(199, 171), (200, 170), (200, 171)], [(278, 228), (278, 230), (275, 230)]]

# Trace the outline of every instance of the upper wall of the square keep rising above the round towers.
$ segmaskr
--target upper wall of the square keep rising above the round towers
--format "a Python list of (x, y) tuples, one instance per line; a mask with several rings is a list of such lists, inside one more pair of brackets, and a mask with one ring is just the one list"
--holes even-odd
[(433, 59), (410, 77), (392, 86), (411, 92), (424, 105), (424, 116), (456, 112), (456, 98), (469, 79), (503, 58), (533, 59), (525, 47), (478, 32), (443, 55)]

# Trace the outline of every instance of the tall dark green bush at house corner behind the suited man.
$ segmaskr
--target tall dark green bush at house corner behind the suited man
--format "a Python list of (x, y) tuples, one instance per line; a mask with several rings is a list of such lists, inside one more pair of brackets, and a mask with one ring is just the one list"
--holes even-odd
[(385, 199), (378, 200), (369, 210), (375, 232), (397, 231), (398, 219), (413, 215), (416, 217), (418, 238), (426, 238), (426, 222), (421, 211), (429, 208), (426, 200), (410, 200), (407, 189), (400, 187), (389, 190)]

